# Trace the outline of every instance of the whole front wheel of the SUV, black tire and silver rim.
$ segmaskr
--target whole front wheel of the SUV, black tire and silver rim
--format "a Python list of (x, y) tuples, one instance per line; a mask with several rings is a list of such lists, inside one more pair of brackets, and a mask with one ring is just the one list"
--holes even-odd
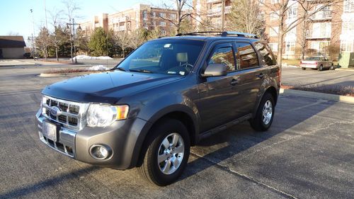
[(164, 120), (152, 128), (139, 173), (157, 186), (167, 186), (181, 176), (190, 154), (188, 130), (178, 120)]

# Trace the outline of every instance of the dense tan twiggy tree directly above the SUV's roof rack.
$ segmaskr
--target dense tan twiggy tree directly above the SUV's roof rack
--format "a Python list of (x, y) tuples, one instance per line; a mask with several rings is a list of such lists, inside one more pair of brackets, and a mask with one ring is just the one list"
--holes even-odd
[(232, 1), (228, 27), (244, 33), (260, 34), (264, 29), (263, 18), (260, 18), (260, 3), (258, 0)]

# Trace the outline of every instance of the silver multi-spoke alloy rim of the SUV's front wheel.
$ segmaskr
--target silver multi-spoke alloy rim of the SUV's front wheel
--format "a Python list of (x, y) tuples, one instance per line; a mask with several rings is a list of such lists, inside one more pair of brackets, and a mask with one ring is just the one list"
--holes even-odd
[(176, 132), (162, 140), (157, 154), (157, 164), (164, 174), (173, 174), (181, 166), (184, 155), (184, 142)]

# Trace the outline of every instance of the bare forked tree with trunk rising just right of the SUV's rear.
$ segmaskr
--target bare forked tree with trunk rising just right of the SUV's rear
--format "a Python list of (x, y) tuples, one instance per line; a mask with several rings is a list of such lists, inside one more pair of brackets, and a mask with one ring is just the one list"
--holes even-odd
[[(308, 20), (314, 14), (322, 11), (327, 6), (331, 6), (333, 4), (337, 4), (338, 1), (341, 0), (279, 0), (278, 4), (272, 4), (269, 6), (268, 4), (263, 4), (267, 7), (272, 13), (276, 13), (279, 16), (278, 19), (278, 64), (282, 65), (282, 45), (284, 42), (284, 38), (286, 33), (289, 33), (290, 30), (297, 27), (297, 25), (301, 24), (305, 20)], [(261, 2), (261, 1), (260, 1)], [(300, 10), (297, 11), (297, 16), (291, 19), (290, 23), (285, 23), (287, 19), (287, 13), (292, 6), (299, 5)]]

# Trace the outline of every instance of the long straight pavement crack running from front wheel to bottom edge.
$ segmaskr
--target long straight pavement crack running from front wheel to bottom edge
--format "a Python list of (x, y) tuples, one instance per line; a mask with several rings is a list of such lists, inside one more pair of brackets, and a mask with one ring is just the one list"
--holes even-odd
[(229, 168), (228, 166), (226, 166), (226, 165), (219, 164), (219, 163), (217, 163), (217, 162), (215, 162), (215, 161), (212, 161), (212, 160), (210, 160), (210, 159), (207, 159), (207, 158), (205, 158), (205, 157), (202, 157), (202, 156), (200, 156), (200, 155), (198, 155), (198, 154), (194, 154), (194, 153), (190, 153), (190, 154), (194, 155), (195, 157), (205, 159), (206, 161), (209, 161), (210, 163), (215, 164), (215, 166), (219, 167), (219, 169), (222, 169), (222, 170), (224, 170), (224, 171), (227, 171), (227, 172), (229, 172), (230, 174), (233, 174), (233, 175), (235, 175), (235, 176), (239, 176), (239, 177), (244, 178), (244, 179), (246, 179), (246, 180), (248, 180), (248, 181), (251, 181), (251, 182), (253, 182), (253, 183), (256, 183), (256, 184), (258, 184), (259, 186), (262, 186), (263, 188), (268, 188), (268, 189), (270, 189), (270, 191), (272, 191), (273, 193), (278, 193), (279, 195), (282, 195), (282, 196), (285, 197), (285, 198), (297, 199), (297, 197), (296, 197), (295, 195), (291, 195), (290, 193), (285, 193), (284, 191), (281, 191), (281, 190), (279, 190), (278, 188), (275, 188), (275, 187), (273, 187), (273, 186), (269, 186), (269, 185), (267, 185), (267, 184), (265, 184), (265, 183), (263, 183), (263, 182), (261, 182), (261, 181), (256, 180), (256, 178), (253, 178), (253, 177), (251, 177), (251, 176), (247, 176), (246, 174), (241, 174), (241, 173), (238, 172), (238, 171), (235, 171), (235, 170), (233, 170), (233, 169), (230, 169), (230, 168)]

